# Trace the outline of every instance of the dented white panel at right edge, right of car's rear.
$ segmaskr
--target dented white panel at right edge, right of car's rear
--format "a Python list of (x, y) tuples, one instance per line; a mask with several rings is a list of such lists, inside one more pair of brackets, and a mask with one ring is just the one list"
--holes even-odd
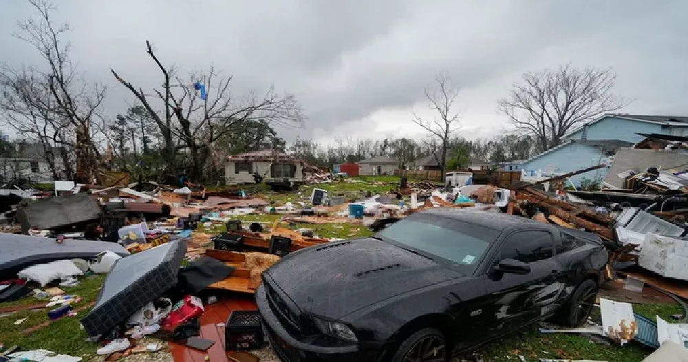
[(688, 280), (688, 241), (649, 233), (638, 265), (665, 277)]

